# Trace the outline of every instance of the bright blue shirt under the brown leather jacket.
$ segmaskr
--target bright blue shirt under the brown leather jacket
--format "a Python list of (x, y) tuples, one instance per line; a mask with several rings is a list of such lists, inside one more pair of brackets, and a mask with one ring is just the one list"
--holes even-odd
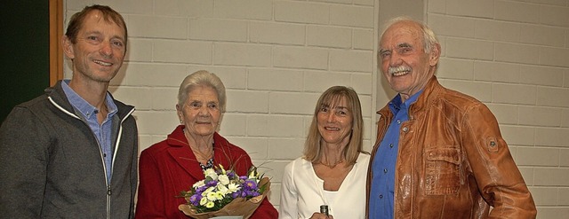
[(389, 109), (395, 115), (372, 160), (372, 188), (370, 191), (370, 218), (393, 218), (395, 167), (399, 148), (399, 130), (409, 120), (409, 107), (421, 95), (422, 90), (401, 103), (397, 95), (389, 102)]

